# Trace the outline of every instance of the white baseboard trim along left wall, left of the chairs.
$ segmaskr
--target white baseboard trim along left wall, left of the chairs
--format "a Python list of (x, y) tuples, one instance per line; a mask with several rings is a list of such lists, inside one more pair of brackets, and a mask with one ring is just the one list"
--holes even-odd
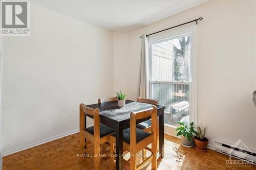
[(19, 148), (16, 148), (16, 149), (13, 149), (13, 150), (10, 150), (10, 151), (7, 151), (7, 152), (3, 152), (2, 156), (7, 156), (7, 155), (10, 155), (10, 154), (14, 154), (16, 152), (19, 152), (19, 151), (23, 151), (23, 150), (26, 150), (26, 149), (29, 149), (29, 148), (33, 148), (33, 147), (36, 147), (37, 145), (44, 144), (44, 143), (47, 143), (49, 141), (59, 139), (61, 137), (69, 136), (69, 135), (72, 135), (72, 134), (77, 133), (77, 132), (79, 132), (79, 129), (76, 129), (76, 130), (73, 130), (73, 131), (70, 131), (70, 132), (66, 132), (66, 133), (62, 133), (62, 134), (59, 134), (59, 135), (56, 135), (56, 136), (53, 136), (53, 137), (49, 137), (47, 139), (40, 140), (40, 141), (37, 141), (37, 142), (34, 142), (34, 143), (30, 143), (30, 144), (27, 144), (23, 147), (19, 147)]

